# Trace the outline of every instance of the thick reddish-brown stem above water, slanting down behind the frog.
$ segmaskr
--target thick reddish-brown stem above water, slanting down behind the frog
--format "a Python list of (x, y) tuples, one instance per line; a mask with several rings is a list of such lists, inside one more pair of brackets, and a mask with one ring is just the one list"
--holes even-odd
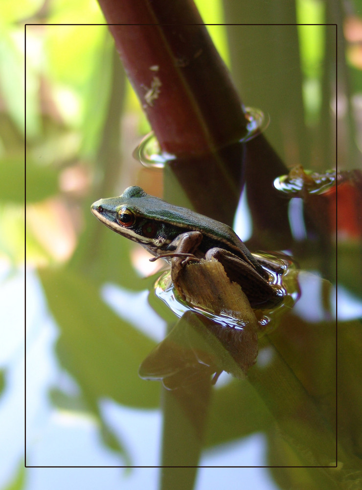
[(98, 0), (163, 151), (209, 153), (242, 138), (246, 119), (192, 0)]

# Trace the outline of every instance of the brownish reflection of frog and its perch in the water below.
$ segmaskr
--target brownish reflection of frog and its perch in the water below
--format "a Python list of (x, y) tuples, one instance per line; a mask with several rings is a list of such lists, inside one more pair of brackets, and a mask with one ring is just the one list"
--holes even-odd
[(223, 371), (242, 378), (257, 354), (258, 338), (253, 327), (225, 326), (187, 311), (144, 360), (139, 374), (144, 379), (160, 380), (166, 389), (174, 390), (195, 383), (206, 374), (211, 383)]

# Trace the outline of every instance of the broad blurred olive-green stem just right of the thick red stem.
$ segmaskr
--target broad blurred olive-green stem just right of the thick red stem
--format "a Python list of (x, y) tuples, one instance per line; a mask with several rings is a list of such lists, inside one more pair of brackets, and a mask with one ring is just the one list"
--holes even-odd
[[(286, 166), (292, 167), (296, 161), (303, 165), (309, 163), (309, 141), (303, 125), (298, 32), (292, 25), (295, 24), (294, 3), (288, 2), (283, 11), (283, 22), (288, 25), (265, 24), (276, 21), (276, 10), (279, 10), (276, 5), (283, 10), (282, 3), (273, 2), (262, 8), (261, 1), (250, 2), (250, 8), (245, 11), (242, 2), (225, 0), (225, 12), (226, 22), (230, 23), (227, 34), (237, 89), (247, 106), (270, 115), (272, 123), (266, 138)], [(233, 24), (235, 16), (243, 16), (244, 22), (251, 25)], [(256, 16), (261, 25), (252, 25)], [(295, 149), (293, 156), (287, 151), (288, 144)]]

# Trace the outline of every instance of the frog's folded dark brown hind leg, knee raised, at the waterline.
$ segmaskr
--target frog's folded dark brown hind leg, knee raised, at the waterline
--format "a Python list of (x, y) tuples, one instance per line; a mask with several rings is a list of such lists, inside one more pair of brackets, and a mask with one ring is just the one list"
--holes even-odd
[(252, 308), (271, 308), (282, 301), (283, 292), (237, 255), (215, 247), (206, 252), (205, 258), (214, 258), (223, 265), (227, 277), (240, 285)]

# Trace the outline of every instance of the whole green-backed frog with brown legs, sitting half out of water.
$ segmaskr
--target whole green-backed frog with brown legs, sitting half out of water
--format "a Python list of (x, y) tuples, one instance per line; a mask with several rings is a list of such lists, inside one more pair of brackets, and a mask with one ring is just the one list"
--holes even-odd
[(111, 230), (146, 248), (154, 255), (150, 260), (171, 262), (171, 277), (181, 296), (178, 278), (185, 264), (215, 258), (229, 279), (240, 284), (253, 308), (270, 308), (283, 299), (269, 283), (261, 261), (220, 221), (150, 196), (137, 186), (121, 196), (99, 199), (91, 212)]

